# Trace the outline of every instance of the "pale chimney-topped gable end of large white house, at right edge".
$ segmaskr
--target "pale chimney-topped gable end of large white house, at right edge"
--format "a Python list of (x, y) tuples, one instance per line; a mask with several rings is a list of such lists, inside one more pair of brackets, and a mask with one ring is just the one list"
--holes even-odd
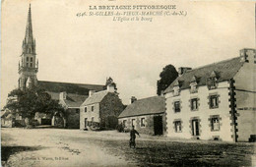
[(256, 58), (248, 55), (248, 62), (233, 78), (237, 113), (237, 139), (248, 141), (256, 135)]

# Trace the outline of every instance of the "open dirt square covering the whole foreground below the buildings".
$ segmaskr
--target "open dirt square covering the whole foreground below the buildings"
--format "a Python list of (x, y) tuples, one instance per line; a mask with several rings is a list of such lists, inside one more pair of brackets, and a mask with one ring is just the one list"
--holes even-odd
[(3, 166), (256, 166), (255, 143), (63, 129), (2, 129)]

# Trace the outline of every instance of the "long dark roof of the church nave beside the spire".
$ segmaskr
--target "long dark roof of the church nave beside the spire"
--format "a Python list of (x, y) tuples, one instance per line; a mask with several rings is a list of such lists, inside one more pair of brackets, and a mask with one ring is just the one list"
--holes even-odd
[(100, 84), (83, 84), (83, 83), (57, 83), (38, 81), (38, 86), (51, 92), (76, 93), (81, 95), (88, 95), (89, 90), (100, 91), (104, 89), (104, 85)]

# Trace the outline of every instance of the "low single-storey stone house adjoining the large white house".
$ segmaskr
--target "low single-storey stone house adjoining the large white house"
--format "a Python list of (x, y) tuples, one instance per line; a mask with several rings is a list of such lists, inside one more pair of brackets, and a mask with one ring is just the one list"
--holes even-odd
[(165, 134), (165, 102), (163, 96), (153, 96), (136, 100), (131, 98), (129, 104), (119, 115), (119, 124), (124, 129), (131, 130), (132, 126), (142, 134)]

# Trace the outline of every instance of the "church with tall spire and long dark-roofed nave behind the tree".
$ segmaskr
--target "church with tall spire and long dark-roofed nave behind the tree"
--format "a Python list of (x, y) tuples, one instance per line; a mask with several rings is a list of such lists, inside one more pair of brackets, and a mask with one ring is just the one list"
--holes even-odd
[[(45, 89), (52, 99), (58, 100), (67, 109), (69, 116), (65, 123), (66, 128), (79, 129), (81, 104), (88, 98), (90, 90), (101, 91), (105, 89), (105, 85), (38, 81), (37, 72), (38, 60), (36, 59), (35, 38), (32, 35), (32, 9), (30, 5), (22, 55), (19, 61), (19, 88), (26, 89), (36, 85)], [(23, 118), (16, 119), (23, 120)], [(54, 117), (50, 118), (46, 114), (37, 113), (35, 119), (39, 125), (54, 126)]]

